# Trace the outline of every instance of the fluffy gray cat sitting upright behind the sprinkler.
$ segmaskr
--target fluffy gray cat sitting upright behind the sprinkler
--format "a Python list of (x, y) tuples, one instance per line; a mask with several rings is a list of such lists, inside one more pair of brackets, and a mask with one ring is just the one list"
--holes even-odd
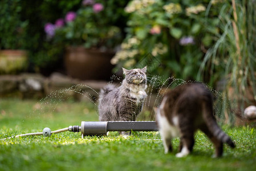
[(135, 121), (147, 96), (147, 67), (125, 70), (120, 87), (113, 85), (101, 89), (99, 96), (100, 121)]

